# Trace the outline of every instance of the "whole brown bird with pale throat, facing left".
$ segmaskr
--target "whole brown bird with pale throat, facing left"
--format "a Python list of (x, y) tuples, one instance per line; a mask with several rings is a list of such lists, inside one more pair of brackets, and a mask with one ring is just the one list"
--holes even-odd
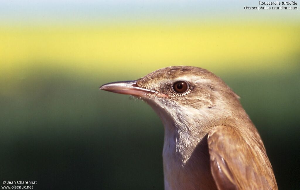
[(240, 97), (212, 72), (170, 66), (100, 89), (139, 98), (160, 117), (166, 190), (278, 189)]

